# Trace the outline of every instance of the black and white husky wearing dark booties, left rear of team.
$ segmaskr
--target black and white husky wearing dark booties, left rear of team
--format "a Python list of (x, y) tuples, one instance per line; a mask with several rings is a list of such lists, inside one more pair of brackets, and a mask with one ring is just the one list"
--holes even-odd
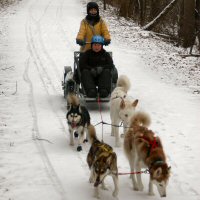
[[(75, 137), (78, 137), (77, 151), (81, 151), (81, 144), (84, 142), (85, 131), (87, 133), (87, 127), (90, 125), (90, 114), (85, 106), (80, 105), (76, 95), (68, 95), (67, 101), (69, 107), (66, 118), (70, 132), (70, 145), (74, 145), (73, 134), (75, 133)], [(85, 141), (87, 141), (87, 137)]]

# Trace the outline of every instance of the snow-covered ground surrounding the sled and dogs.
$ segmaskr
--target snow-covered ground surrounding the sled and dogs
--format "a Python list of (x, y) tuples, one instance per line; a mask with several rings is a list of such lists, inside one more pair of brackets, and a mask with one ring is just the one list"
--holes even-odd
[[(27, 0), (0, 10), (0, 199), (93, 199), (85, 161), (89, 144), (76, 152), (69, 146), (66, 102), (61, 80), (63, 66), (73, 65), (79, 47), (75, 37), (85, 16), (85, 0)], [(162, 139), (172, 174), (165, 199), (199, 200), (200, 83), (199, 58), (182, 59), (181, 48), (152, 38), (130, 21), (102, 13), (107, 19), (119, 74), (132, 82), (130, 96), (138, 109), (151, 115)], [(88, 105), (92, 123), (100, 122), (96, 104)], [(110, 122), (109, 105), (102, 107)], [(101, 126), (97, 127), (101, 138)], [(104, 141), (114, 145), (110, 127)], [(128, 172), (122, 147), (114, 148), (120, 172)], [(128, 176), (120, 176), (119, 199), (160, 199), (132, 190)], [(109, 191), (102, 199), (113, 199)]]

